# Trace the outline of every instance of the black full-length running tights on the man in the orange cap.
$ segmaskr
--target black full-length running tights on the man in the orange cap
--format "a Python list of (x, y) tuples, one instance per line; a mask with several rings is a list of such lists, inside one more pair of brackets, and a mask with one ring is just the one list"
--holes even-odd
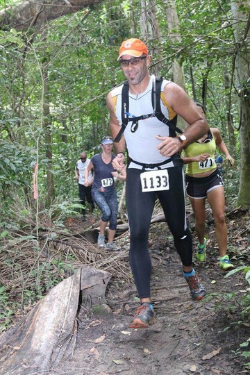
[(192, 265), (192, 237), (186, 225), (183, 167), (169, 167), (167, 171), (169, 190), (142, 192), (140, 174), (144, 171), (127, 170), (126, 207), (131, 235), (129, 262), (140, 298), (150, 297), (151, 259), (147, 242), (156, 194), (183, 265)]

